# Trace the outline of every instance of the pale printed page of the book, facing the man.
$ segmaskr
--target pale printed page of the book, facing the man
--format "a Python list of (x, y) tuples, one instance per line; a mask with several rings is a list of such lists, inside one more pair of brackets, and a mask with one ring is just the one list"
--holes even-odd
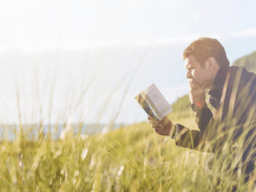
[(151, 86), (144, 91), (153, 103), (154, 107), (157, 108), (157, 111), (160, 113), (162, 118), (172, 111), (171, 105), (169, 105), (169, 102), (166, 101), (163, 94), (160, 93), (155, 84), (151, 84)]

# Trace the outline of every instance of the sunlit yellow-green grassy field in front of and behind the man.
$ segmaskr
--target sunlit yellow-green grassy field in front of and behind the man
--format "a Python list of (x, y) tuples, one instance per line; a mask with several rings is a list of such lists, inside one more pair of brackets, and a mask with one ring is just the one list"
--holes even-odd
[[(173, 109), (172, 123), (197, 129), (188, 96)], [(3, 141), (0, 153), (1, 191), (214, 190), (205, 174), (209, 153), (178, 148), (148, 122), (96, 136), (71, 131), (56, 141), (38, 132), (38, 140), (31, 142), (23, 131), (14, 142)], [(227, 183), (220, 191), (230, 191)]]

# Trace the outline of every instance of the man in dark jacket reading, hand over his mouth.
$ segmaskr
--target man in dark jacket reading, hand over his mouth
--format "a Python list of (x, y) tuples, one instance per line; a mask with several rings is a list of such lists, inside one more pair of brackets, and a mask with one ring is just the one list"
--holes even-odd
[[(231, 154), (232, 160), (226, 162), (225, 170), (232, 169), (233, 175), (237, 172), (245, 175), (244, 182), (247, 182), (252, 178), (256, 157), (253, 150), (256, 75), (244, 67), (230, 67), (224, 47), (212, 38), (193, 41), (184, 50), (183, 59), (191, 108), (197, 113), (200, 131), (174, 125), (167, 117), (160, 122), (148, 117), (149, 122), (156, 133), (171, 136), (180, 147), (212, 152), (210, 163), (222, 157), (224, 164), (230, 159), (227, 154)], [(208, 102), (215, 108), (214, 114), (207, 107), (206, 89), (210, 89)]]

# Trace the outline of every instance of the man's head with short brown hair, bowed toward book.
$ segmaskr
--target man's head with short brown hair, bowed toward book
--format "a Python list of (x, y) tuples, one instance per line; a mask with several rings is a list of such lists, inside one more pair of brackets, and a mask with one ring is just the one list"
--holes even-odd
[(194, 79), (200, 86), (209, 81), (206, 89), (212, 87), (218, 69), (230, 65), (224, 47), (214, 38), (199, 38), (193, 41), (184, 50), (183, 59), (187, 78)]

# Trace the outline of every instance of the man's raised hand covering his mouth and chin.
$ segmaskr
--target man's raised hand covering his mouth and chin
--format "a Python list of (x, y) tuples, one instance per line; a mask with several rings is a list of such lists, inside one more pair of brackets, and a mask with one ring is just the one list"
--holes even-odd
[(189, 81), (190, 89), (189, 89), (189, 99), (190, 102), (205, 102), (206, 101), (206, 85), (209, 84), (209, 81), (203, 84), (201, 87), (197, 84), (197, 81), (194, 79)]

